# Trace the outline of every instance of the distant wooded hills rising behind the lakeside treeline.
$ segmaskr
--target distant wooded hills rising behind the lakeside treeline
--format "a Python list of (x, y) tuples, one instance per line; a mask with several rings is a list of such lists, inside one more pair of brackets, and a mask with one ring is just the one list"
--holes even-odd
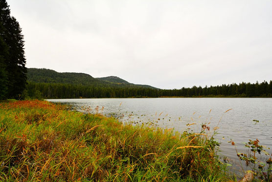
[(27, 68), (27, 80), (35, 83), (66, 83), (103, 87), (144, 87), (155, 88), (150, 85), (129, 83), (128, 81), (115, 77), (93, 78), (85, 73), (59, 73), (45, 68)]

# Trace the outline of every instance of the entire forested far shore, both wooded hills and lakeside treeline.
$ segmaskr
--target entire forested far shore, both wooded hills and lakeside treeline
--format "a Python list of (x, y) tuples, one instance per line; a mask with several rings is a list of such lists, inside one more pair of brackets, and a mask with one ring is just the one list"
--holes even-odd
[[(98, 80), (99, 79), (99, 80)], [(149, 86), (149, 85), (147, 85)], [(141, 98), (141, 97), (272, 97), (269, 83), (233, 83), (181, 89), (143, 87), (118, 77), (93, 78), (83, 73), (58, 73), (48, 69), (28, 69), (30, 98)]]

